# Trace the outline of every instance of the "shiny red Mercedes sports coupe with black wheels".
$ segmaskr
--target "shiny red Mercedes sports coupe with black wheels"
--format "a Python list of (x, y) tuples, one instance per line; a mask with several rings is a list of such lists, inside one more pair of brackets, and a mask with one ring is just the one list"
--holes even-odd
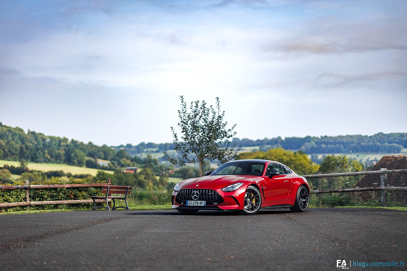
[(182, 214), (198, 210), (234, 210), (254, 215), (260, 209), (290, 208), (305, 212), (309, 202), (307, 180), (289, 167), (270, 160), (235, 160), (205, 176), (175, 185), (173, 209)]

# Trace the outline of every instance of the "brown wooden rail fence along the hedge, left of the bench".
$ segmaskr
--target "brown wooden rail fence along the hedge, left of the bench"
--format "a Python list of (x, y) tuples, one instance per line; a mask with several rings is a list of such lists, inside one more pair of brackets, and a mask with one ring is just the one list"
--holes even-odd
[[(79, 203), (93, 203), (92, 199), (72, 199), (72, 200), (50, 200), (42, 202), (30, 202), (30, 189), (51, 189), (51, 188), (83, 188), (83, 187), (102, 187), (103, 185), (110, 185), (110, 180), (107, 183), (94, 183), (94, 184), (28, 184), (26, 180), (26, 185), (1, 185), (0, 191), (3, 190), (16, 190), (25, 189), (26, 190), (26, 201), (25, 202), (7, 202), (0, 203), (1, 207), (16, 207), (16, 206), (28, 206), (31, 205), (47, 205), (47, 204), (79, 204)], [(96, 199), (96, 202), (105, 202), (104, 199)], [(110, 202), (110, 199), (108, 200)]]

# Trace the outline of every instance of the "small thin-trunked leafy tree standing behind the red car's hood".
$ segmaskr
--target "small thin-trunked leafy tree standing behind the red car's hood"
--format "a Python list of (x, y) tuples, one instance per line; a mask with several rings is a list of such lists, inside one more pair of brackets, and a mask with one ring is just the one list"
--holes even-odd
[[(181, 110), (178, 110), (181, 128), (181, 140), (171, 127), (174, 137), (174, 150), (181, 152), (181, 157), (172, 157), (164, 152), (164, 158), (174, 165), (184, 166), (185, 163), (199, 163), (199, 176), (202, 176), (204, 159), (218, 159), (219, 163), (225, 163), (234, 158), (240, 150), (240, 146), (235, 150), (236, 143), (231, 146), (230, 141), (223, 141), (233, 137), (236, 132), (232, 128), (227, 129), (227, 121), (223, 122), (225, 111), (220, 110), (219, 97), (216, 98), (216, 108), (207, 106), (205, 101), (191, 102), (188, 112), (184, 96), (181, 98)], [(195, 156), (191, 155), (195, 154)]]

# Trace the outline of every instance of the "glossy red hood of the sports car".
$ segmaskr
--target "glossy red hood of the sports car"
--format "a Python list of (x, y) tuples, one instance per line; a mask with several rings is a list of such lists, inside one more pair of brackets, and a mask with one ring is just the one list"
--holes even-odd
[(221, 189), (235, 182), (252, 181), (254, 178), (258, 177), (246, 175), (209, 175), (184, 180), (179, 184), (179, 189)]

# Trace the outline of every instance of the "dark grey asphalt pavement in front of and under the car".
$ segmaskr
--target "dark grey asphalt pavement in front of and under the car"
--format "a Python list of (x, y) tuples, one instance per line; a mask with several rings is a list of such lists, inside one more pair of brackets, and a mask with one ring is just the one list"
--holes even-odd
[[(407, 270), (407, 212), (311, 208), (0, 216), (0, 270)], [(394, 262), (393, 262), (394, 261)]]

